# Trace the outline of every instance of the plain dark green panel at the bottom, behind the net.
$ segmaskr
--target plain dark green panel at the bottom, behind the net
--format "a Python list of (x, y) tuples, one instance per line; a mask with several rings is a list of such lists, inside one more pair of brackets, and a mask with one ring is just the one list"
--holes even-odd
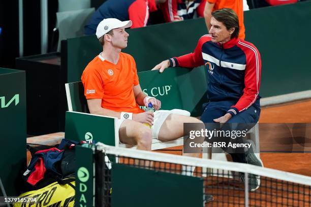
[(203, 206), (203, 178), (113, 164), (111, 206)]

